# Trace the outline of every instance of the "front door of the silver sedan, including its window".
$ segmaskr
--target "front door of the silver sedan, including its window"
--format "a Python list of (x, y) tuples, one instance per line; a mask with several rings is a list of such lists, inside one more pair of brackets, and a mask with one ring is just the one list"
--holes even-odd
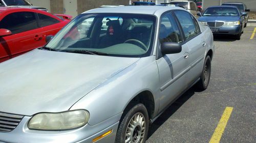
[[(164, 14), (160, 21), (159, 46), (164, 42), (182, 43), (181, 31), (171, 13)], [(160, 111), (187, 88), (185, 73), (188, 69), (188, 52), (184, 44), (180, 53), (166, 54), (157, 60), (161, 87)]]

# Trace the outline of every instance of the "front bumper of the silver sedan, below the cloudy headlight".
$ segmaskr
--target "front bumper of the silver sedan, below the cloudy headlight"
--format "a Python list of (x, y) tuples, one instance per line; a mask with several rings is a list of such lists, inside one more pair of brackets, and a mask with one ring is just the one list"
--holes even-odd
[(109, 130), (112, 133), (96, 141), (97, 143), (115, 142), (116, 132), (118, 129), (118, 120), (122, 113), (115, 115), (94, 126), (89, 124), (74, 130), (67, 131), (39, 131), (30, 130), (27, 125), (31, 117), (24, 117), (19, 125), (11, 132), (0, 132), (0, 142), (79, 142), (91, 143), (92, 140)]

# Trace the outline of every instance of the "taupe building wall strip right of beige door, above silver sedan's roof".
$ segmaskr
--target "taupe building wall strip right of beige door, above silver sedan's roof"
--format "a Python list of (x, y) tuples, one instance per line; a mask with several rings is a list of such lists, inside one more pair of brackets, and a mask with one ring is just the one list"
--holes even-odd
[(78, 14), (103, 5), (129, 5), (129, 0), (77, 0)]

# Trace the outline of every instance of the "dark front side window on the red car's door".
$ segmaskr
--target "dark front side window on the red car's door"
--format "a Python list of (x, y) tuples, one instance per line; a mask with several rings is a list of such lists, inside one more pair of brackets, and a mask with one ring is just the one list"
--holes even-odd
[(37, 28), (35, 13), (16, 12), (9, 14), (0, 22), (0, 28), (10, 30), (12, 34), (33, 30)]

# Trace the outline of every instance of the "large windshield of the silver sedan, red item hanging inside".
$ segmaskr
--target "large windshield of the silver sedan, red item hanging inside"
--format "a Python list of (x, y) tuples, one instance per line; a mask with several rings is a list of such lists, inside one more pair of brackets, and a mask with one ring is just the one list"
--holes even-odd
[(81, 14), (47, 45), (49, 50), (143, 57), (152, 52), (156, 17), (142, 14)]

